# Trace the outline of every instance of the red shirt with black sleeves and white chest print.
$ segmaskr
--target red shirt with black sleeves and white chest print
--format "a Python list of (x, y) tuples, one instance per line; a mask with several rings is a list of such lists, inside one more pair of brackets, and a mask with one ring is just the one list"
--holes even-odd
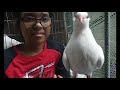
[(23, 56), (16, 46), (4, 51), (4, 71), (8, 78), (53, 78), (54, 74), (69, 77), (62, 63), (64, 46), (48, 40), (41, 53)]

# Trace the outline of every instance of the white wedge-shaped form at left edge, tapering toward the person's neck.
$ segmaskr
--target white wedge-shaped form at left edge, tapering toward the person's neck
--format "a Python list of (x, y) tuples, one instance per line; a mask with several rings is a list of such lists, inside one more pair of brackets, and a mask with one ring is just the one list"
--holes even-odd
[(18, 44), (21, 44), (21, 43), (15, 39), (8, 37), (6, 34), (4, 34), (4, 49), (10, 48)]

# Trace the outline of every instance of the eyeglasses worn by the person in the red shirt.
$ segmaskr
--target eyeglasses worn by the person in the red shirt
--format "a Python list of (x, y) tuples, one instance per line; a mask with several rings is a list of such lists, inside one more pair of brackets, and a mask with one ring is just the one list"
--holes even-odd
[(25, 16), (23, 18), (21, 18), (21, 20), (23, 21), (25, 27), (33, 27), (35, 26), (35, 24), (38, 22), (44, 27), (47, 28), (51, 25), (51, 18), (49, 16), (42, 16), (40, 18), (35, 18), (32, 16)]

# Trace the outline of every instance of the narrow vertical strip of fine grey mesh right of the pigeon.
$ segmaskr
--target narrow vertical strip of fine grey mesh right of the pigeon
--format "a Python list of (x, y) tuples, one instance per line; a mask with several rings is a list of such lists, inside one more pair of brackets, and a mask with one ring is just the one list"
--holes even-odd
[(116, 13), (110, 12), (110, 78), (116, 78)]

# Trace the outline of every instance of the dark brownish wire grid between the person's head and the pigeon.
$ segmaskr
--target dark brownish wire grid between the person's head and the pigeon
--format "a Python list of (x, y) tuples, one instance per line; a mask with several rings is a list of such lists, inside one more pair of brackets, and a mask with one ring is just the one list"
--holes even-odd
[(52, 16), (52, 31), (49, 39), (57, 40), (66, 44), (66, 30), (64, 23), (64, 12), (53, 12)]

